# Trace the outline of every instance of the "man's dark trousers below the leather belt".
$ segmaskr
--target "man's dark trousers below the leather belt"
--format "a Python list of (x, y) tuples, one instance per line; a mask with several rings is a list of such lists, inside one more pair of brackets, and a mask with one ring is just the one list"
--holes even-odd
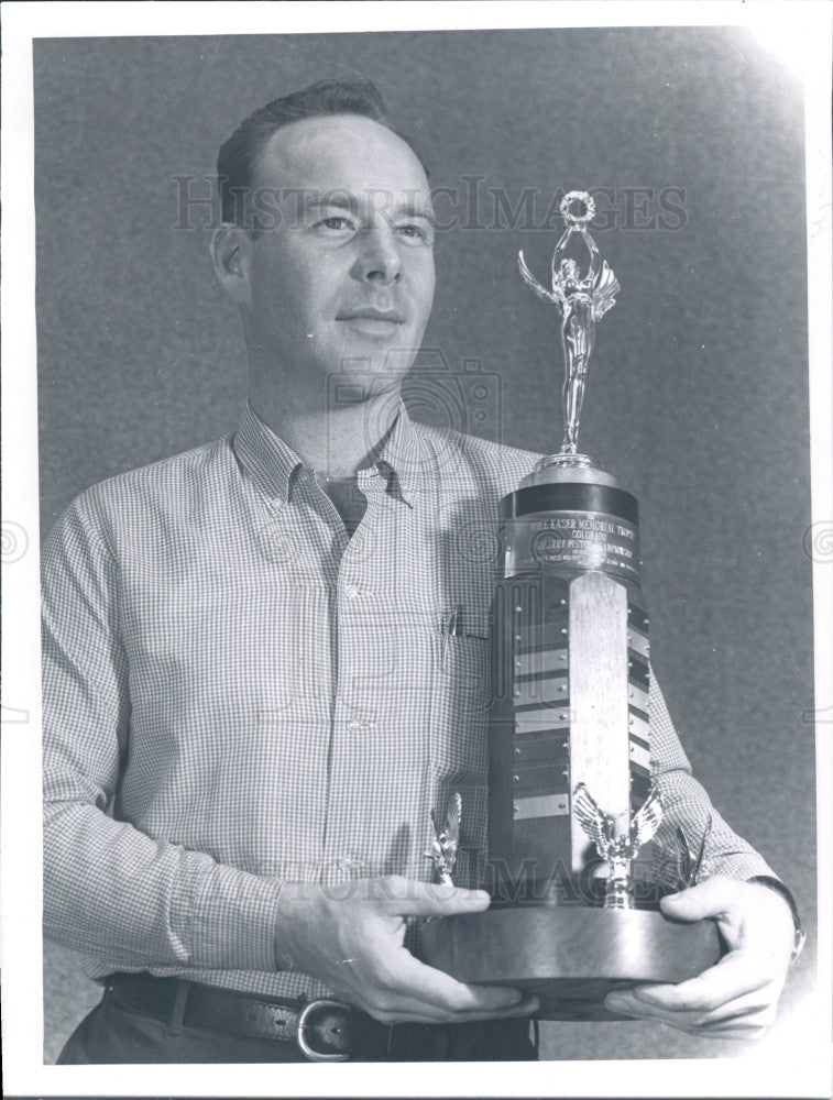
[[(529, 1020), (464, 1024), (396, 1024), (379, 1057), (357, 1062), (533, 1062)], [(252, 1038), (160, 1020), (116, 1003), (107, 990), (66, 1042), (57, 1065), (199, 1065), (306, 1062), (295, 1043)]]

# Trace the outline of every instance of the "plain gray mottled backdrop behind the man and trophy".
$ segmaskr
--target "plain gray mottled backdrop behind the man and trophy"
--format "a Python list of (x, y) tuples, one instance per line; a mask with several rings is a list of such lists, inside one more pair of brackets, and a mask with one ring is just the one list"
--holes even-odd
[[(622, 293), (600, 329), (582, 444), (639, 496), (654, 664), (695, 772), (812, 930), (802, 105), (746, 32), (36, 42), (44, 531), (92, 482), (233, 427), (238, 320), (208, 229), (175, 228), (173, 177), (210, 175), (220, 142), (268, 99), (352, 75), (376, 81), (431, 183), (460, 196), (439, 205), (462, 224), (440, 234), (426, 346), (448, 364), (446, 394), (464, 360), (480, 364), (487, 417), (423, 388), (425, 416), (553, 448), (556, 320), (515, 255), (546, 277), (555, 239), (535, 224), (552, 197), (612, 189), (595, 235)], [(483, 177), (474, 220), (467, 176)], [(494, 191), (517, 210), (525, 187), (539, 189), (533, 216), (501, 216)], [(660, 195), (684, 215), (664, 215)], [(801, 1033), (811, 961), (812, 947), (769, 1042)], [(47, 946), (47, 1060), (96, 998), (76, 958)], [(637, 1023), (548, 1024), (542, 1045), (553, 1058), (745, 1055)]]

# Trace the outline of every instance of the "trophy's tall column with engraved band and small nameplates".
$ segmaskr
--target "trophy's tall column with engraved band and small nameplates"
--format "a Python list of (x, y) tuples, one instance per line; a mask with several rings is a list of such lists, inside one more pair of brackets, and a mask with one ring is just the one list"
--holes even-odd
[[(592, 901), (599, 861), (573, 793), (583, 787), (626, 835), (650, 789), (638, 507), (601, 470), (550, 465), (502, 508), (490, 723), (493, 894)], [(616, 908), (628, 905), (627, 888), (620, 882), (616, 891)], [(614, 904), (612, 891), (606, 903)]]

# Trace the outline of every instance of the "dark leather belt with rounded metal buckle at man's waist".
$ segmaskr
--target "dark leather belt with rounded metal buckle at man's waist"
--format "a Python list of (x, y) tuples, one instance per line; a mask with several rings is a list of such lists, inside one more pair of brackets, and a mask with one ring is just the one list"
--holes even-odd
[(114, 974), (113, 1002), (171, 1023), (249, 1038), (295, 1043), (310, 1062), (346, 1062), (352, 1055), (384, 1057), (392, 1028), (339, 1001), (254, 998), (178, 978)]

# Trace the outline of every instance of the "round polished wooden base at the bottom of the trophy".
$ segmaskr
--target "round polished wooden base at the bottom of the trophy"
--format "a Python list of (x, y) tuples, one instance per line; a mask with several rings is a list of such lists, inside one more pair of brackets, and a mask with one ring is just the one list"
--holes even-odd
[(535, 993), (541, 1020), (627, 1020), (604, 1007), (614, 989), (693, 978), (714, 966), (713, 921), (683, 924), (657, 910), (505, 905), (427, 921), (421, 957), (473, 985)]

